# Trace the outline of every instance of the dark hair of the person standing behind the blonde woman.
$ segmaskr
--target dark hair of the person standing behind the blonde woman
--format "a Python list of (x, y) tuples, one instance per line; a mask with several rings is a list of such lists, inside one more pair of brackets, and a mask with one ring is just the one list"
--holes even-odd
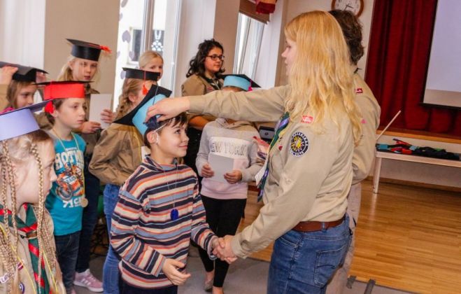
[(362, 25), (357, 16), (349, 10), (331, 10), (329, 14), (333, 15), (343, 31), (344, 38), (349, 47), (350, 62), (357, 65), (357, 62), (364, 53)]

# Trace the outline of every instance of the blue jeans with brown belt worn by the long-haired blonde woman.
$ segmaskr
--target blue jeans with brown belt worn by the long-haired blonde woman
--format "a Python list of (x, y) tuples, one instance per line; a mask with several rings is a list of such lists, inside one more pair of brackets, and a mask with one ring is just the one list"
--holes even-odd
[(274, 244), (267, 293), (325, 293), (327, 281), (342, 264), (350, 244), (349, 218), (315, 232), (290, 230)]

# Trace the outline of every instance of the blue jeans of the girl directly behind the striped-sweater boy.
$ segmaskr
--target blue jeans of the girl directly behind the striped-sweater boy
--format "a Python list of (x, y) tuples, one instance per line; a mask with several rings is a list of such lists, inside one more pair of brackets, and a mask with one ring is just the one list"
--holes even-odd
[[(112, 214), (118, 202), (118, 190), (120, 190), (120, 186), (112, 184), (107, 184), (104, 188), (104, 214), (106, 215), (109, 240), (111, 239)], [(118, 294), (118, 262), (120, 262), (120, 257), (109, 244), (102, 275), (104, 293)]]

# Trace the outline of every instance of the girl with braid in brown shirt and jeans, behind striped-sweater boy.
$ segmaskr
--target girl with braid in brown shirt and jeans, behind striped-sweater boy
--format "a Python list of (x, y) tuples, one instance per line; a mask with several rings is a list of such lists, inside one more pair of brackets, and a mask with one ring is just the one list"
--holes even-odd
[[(132, 111), (146, 96), (147, 89), (157, 84), (159, 73), (141, 69), (124, 69), (122, 95), (117, 110), (117, 118)], [(118, 201), (118, 190), (129, 175), (141, 165), (143, 158), (143, 138), (135, 127), (120, 125), (115, 120), (101, 133), (94, 147), (90, 162), (90, 172), (101, 182), (104, 188), (104, 214), (108, 232), (111, 232), (111, 218)], [(109, 236), (110, 237), (110, 236)], [(118, 255), (109, 246), (103, 269), (104, 293), (118, 293)]]

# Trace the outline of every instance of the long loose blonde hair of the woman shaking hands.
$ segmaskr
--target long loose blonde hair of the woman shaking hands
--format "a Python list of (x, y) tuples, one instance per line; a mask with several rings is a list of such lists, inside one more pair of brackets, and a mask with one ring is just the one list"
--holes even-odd
[(357, 143), (362, 133), (360, 113), (354, 102), (348, 46), (338, 22), (325, 11), (302, 13), (285, 26), (285, 37), (297, 45), (289, 73), (292, 91), (285, 101), (290, 117), (308, 113), (314, 127), (326, 117), (339, 126), (340, 113), (345, 111)]

